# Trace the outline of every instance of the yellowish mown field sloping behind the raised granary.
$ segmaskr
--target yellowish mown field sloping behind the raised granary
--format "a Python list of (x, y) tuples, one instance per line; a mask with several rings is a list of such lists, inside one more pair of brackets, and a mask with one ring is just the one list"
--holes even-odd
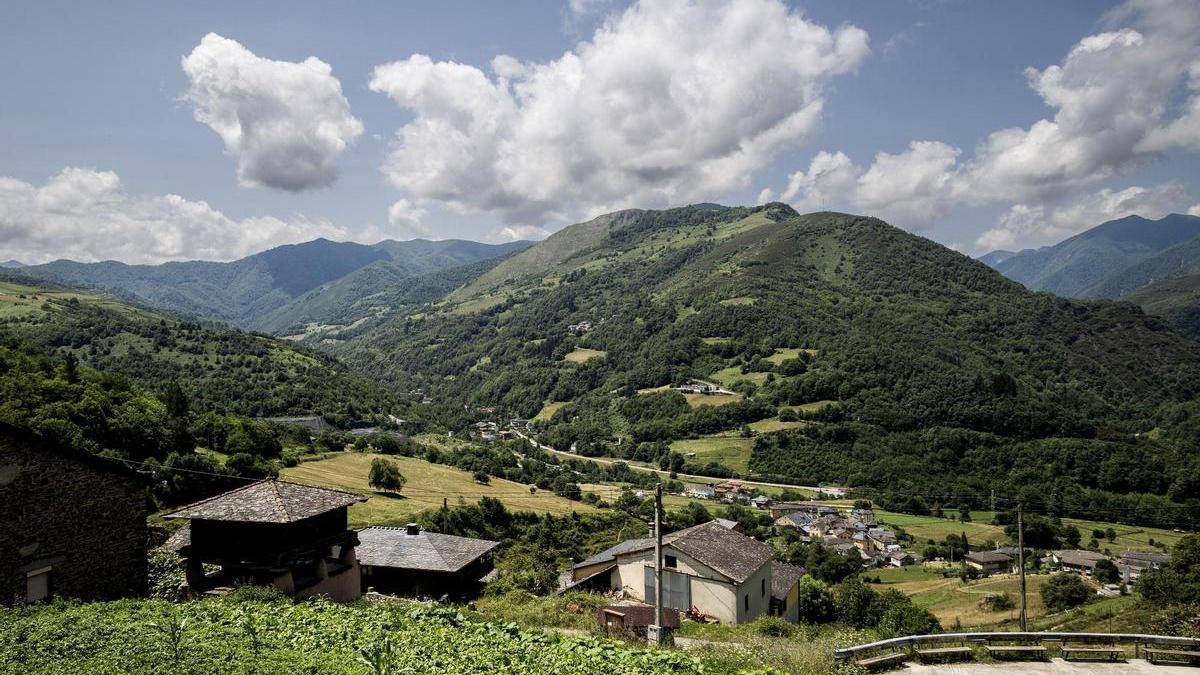
[(475, 483), (470, 473), (430, 464), (415, 458), (388, 456), (400, 466), (400, 472), (408, 482), (400, 496), (388, 496), (376, 492), (367, 485), (367, 473), (371, 460), (377, 456), (367, 453), (344, 453), (331, 459), (310, 461), (280, 472), (280, 477), (295, 483), (337, 488), (366, 495), (366, 503), (350, 507), (350, 526), (366, 525), (403, 525), (412, 516), (428, 508), (440, 508), (442, 500), (449, 498), (450, 504), (458, 500), (467, 503), (480, 497), (496, 497), (511, 510), (534, 510), (538, 513), (564, 514), (572, 510), (592, 512), (593, 507), (559, 497), (552, 492), (538, 490), (529, 494), (529, 486), (499, 478), (492, 478), (487, 485)]

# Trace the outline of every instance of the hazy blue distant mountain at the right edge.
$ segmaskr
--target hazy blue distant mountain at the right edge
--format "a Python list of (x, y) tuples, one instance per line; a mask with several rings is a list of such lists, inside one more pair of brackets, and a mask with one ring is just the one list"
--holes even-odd
[(1110, 275), (1198, 235), (1198, 216), (1171, 214), (1157, 221), (1128, 216), (990, 264), (1030, 289), (1074, 298)]

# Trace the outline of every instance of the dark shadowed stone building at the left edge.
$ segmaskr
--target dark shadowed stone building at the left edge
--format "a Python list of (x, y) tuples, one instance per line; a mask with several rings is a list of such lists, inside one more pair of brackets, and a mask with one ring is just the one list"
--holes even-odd
[(0, 425), (0, 604), (146, 587), (150, 501), (126, 465)]

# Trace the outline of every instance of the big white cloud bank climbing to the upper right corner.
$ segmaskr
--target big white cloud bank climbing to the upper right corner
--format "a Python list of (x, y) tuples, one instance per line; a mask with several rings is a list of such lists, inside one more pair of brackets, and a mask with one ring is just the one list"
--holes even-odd
[[(982, 247), (1073, 232), (1082, 221), (1072, 214), (1090, 216), (1073, 202), (1088, 186), (1162, 151), (1200, 149), (1200, 5), (1132, 0), (1109, 22), (1112, 30), (1084, 37), (1062, 62), (1026, 70), (1054, 117), (989, 133), (966, 161), (960, 149), (930, 141), (896, 155), (880, 153), (865, 169), (841, 153), (821, 153), (808, 171), (791, 175), (785, 198), (811, 207), (832, 195), (911, 229), (932, 225), (958, 204), (1013, 204), (977, 241)], [(1171, 117), (1184, 83), (1187, 104)], [(1164, 186), (1093, 197), (1105, 202), (1097, 214), (1121, 210), (1114, 204), (1152, 208), (1183, 198)]]

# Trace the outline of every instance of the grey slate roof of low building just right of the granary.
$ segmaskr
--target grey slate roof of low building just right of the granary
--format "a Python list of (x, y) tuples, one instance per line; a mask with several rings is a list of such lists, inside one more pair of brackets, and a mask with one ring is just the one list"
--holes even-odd
[(498, 545), (499, 542), (437, 532), (409, 534), (404, 527), (366, 527), (359, 530), (355, 552), (360, 565), (372, 567), (458, 572)]

